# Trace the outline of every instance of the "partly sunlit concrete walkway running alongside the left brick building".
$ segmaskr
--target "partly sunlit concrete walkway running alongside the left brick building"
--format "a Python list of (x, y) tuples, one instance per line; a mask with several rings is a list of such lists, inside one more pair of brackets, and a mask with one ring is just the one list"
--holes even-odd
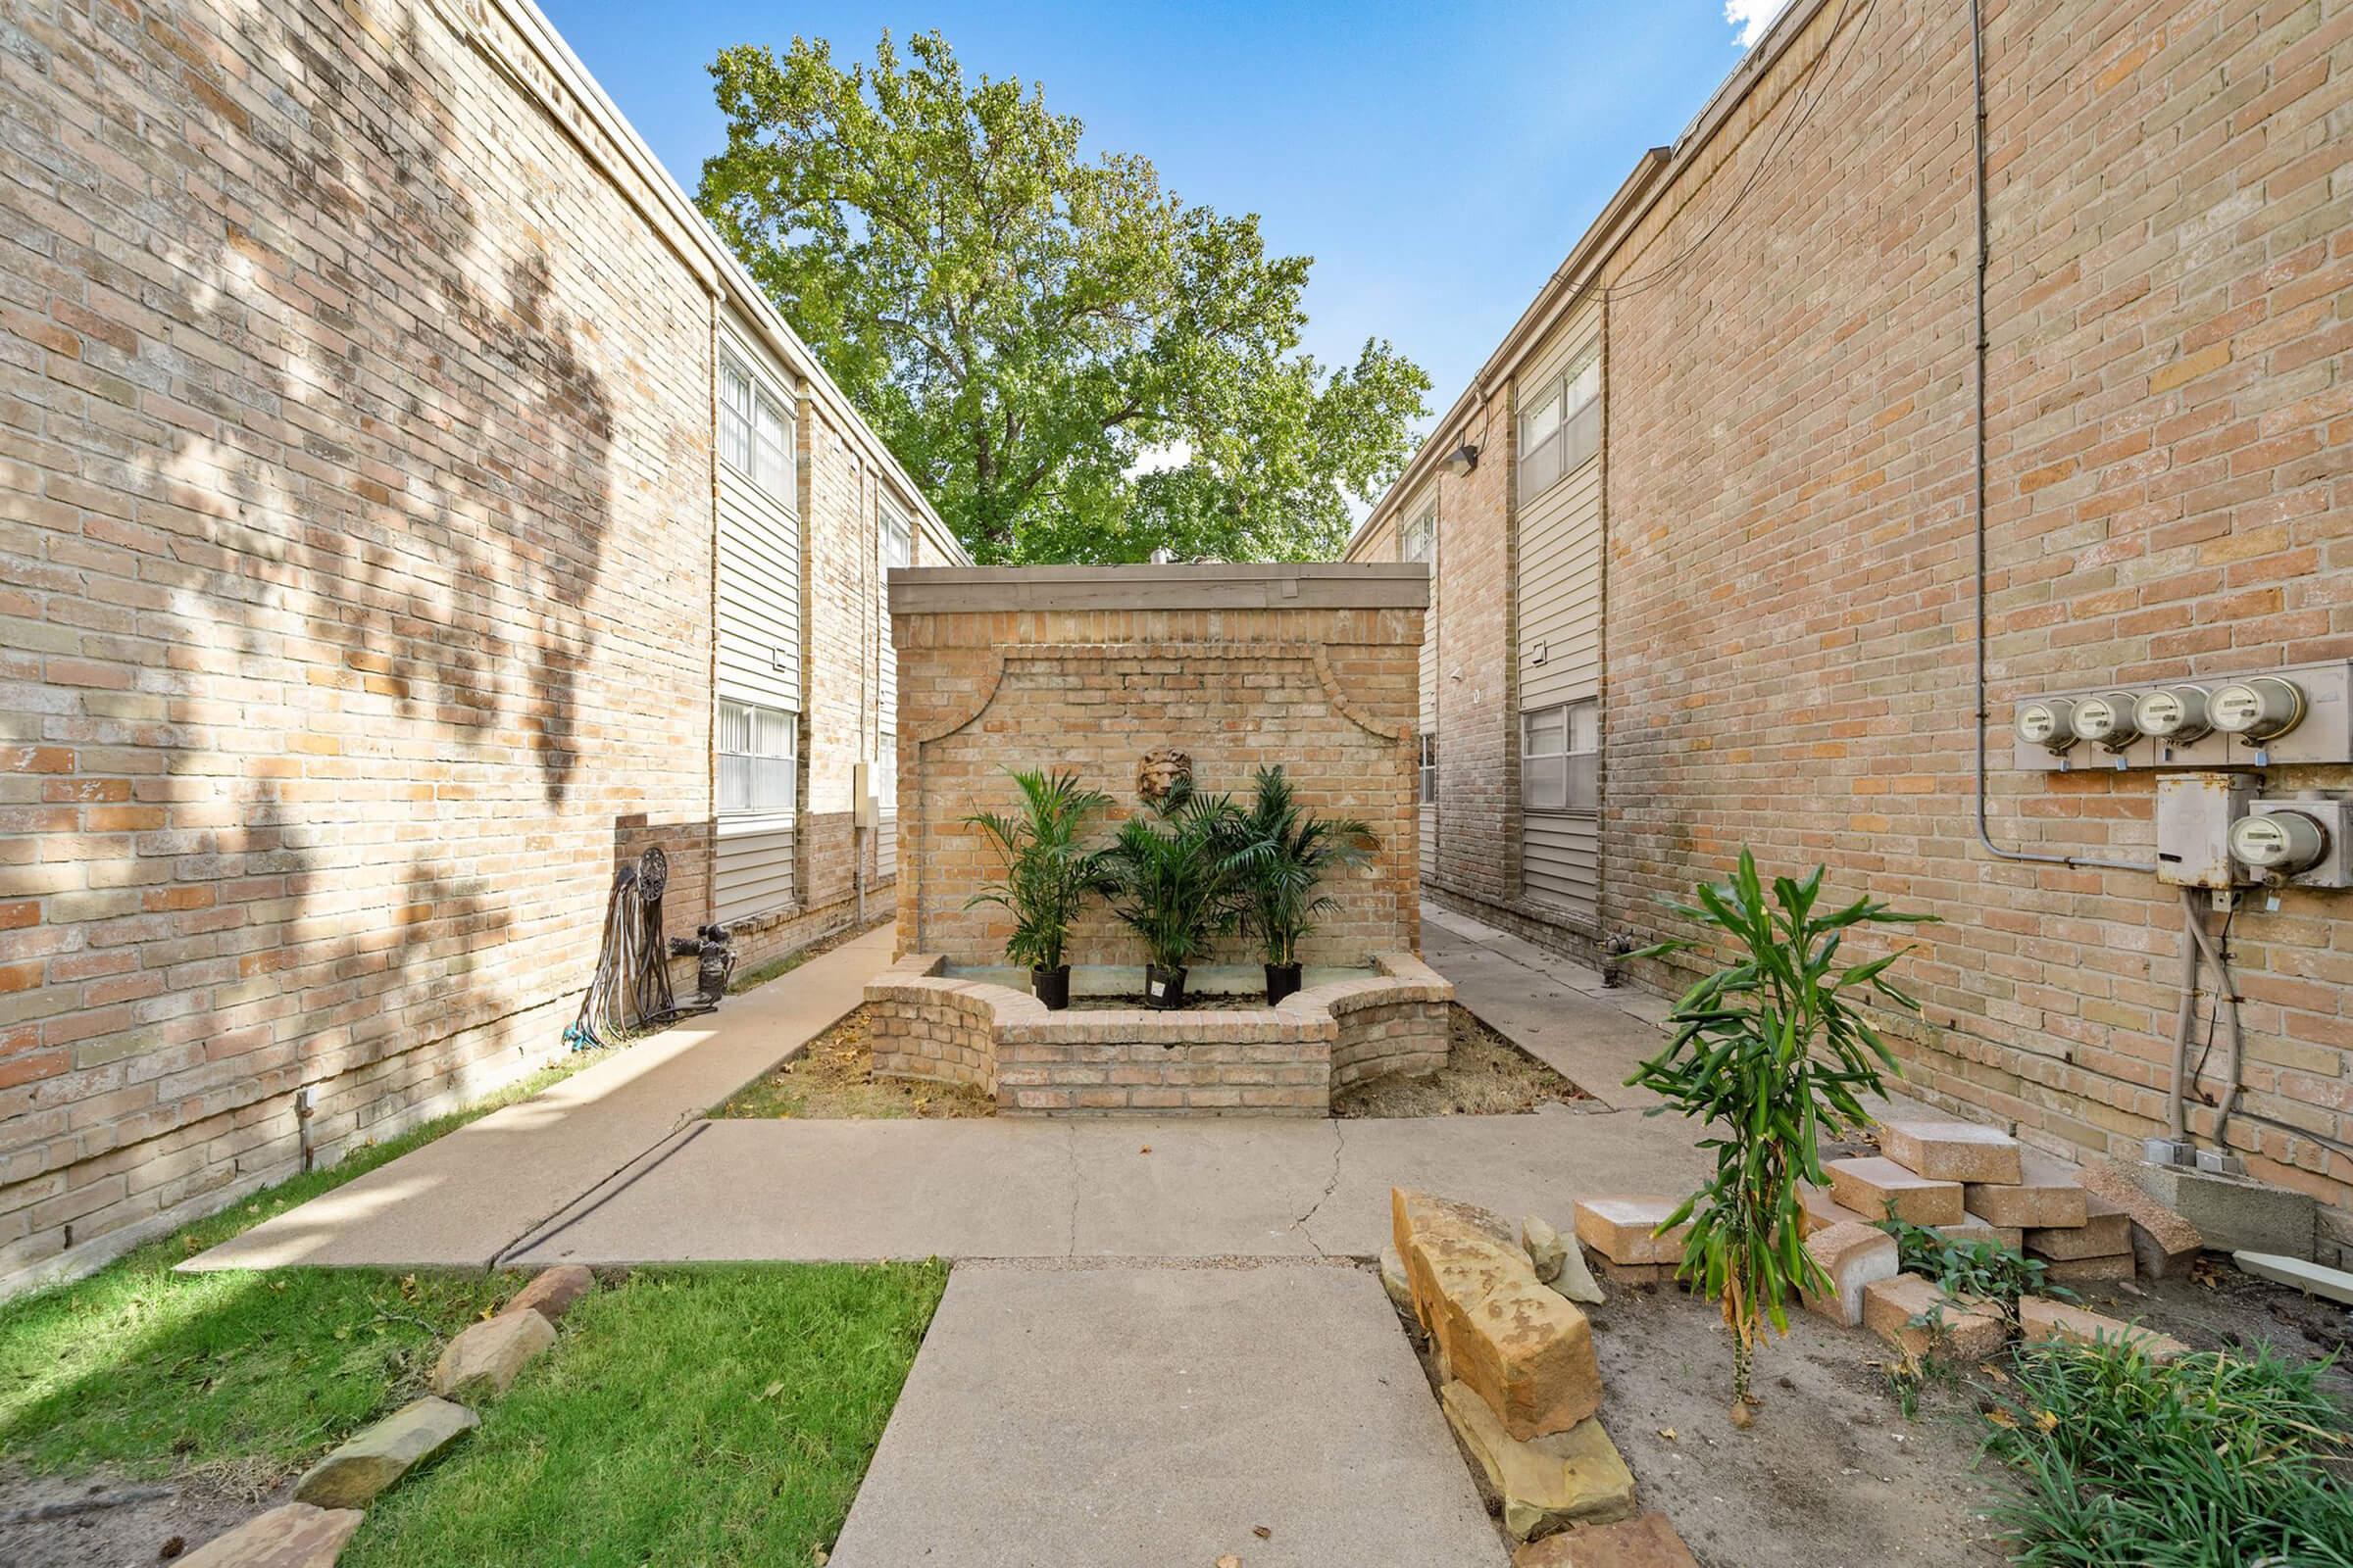
[(864, 999), (889, 954), (889, 926), (868, 931), (181, 1267), (485, 1269), (659, 1161), (706, 1110), (828, 1030)]

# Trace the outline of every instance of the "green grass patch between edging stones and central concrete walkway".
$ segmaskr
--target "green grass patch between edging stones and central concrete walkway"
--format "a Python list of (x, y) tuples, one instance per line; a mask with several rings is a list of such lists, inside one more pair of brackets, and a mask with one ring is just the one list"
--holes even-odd
[(831, 1547), (948, 1269), (640, 1269), (482, 1427), (386, 1493), (346, 1568), (776, 1563)]

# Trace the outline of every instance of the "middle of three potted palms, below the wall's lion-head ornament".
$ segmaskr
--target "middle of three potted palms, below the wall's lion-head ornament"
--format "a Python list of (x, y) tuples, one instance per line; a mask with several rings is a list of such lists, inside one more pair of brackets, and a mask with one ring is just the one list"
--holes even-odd
[(1153, 816), (1120, 825), (1104, 851), (1111, 912), (1144, 938), (1144, 1001), (1184, 1006), (1186, 971), (1233, 931), (1233, 802), (1224, 795), (1172, 792)]

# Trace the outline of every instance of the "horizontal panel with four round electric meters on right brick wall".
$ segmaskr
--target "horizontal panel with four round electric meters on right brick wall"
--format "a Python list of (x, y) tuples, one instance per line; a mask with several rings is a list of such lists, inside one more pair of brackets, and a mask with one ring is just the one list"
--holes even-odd
[(2035, 773), (2353, 762), (2353, 661), (2038, 691), (2012, 705), (2009, 762)]

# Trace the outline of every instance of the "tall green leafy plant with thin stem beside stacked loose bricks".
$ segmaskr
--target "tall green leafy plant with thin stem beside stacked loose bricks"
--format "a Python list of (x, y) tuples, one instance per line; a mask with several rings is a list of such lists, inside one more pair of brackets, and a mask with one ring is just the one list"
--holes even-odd
[[(1795, 1288), (1828, 1288), (1821, 1265), (1805, 1251), (1798, 1222), (1798, 1182), (1826, 1182), (1824, 1131), (1868, 1124), (1861, 1098), (1880, 1093), (1880, 1072), (1897, 1072), (1894, 1056), (1857, 1006), (1875, 994), (1918, 1011), (1887, 969), (1906, 950), (1840, 966), (1854, 926), (1918, 924), (1932, 914), (1899, 914), (1873, 898), (1828, 914), (1817, 912), (1824, 870), (1805, 882), (1774, 877), (1772, 900), (1755, 856), (1741, 851), (1727, 884), (1701, 884), (1697, 905), (1675, 905), (1744, 950), (1687, 990), (1671, 1013), (1675, 1039), (1642, 1063), (1640, 1084), (1673, 1110), (1708, 1128), (1699, 1147), (1715, 1152), (1715, 1175), (1659, 1229), (1685, 1220), (1682, 1276), (1718, 1298), (1732, 1328), (1732, 1420), (1746, 1427), (1748, 1373), (1765, 1324), (1788, 1333), (1784, 1298)], [(1694, 947), (1671, 940), (1633, 957), (1652, 959)]]

